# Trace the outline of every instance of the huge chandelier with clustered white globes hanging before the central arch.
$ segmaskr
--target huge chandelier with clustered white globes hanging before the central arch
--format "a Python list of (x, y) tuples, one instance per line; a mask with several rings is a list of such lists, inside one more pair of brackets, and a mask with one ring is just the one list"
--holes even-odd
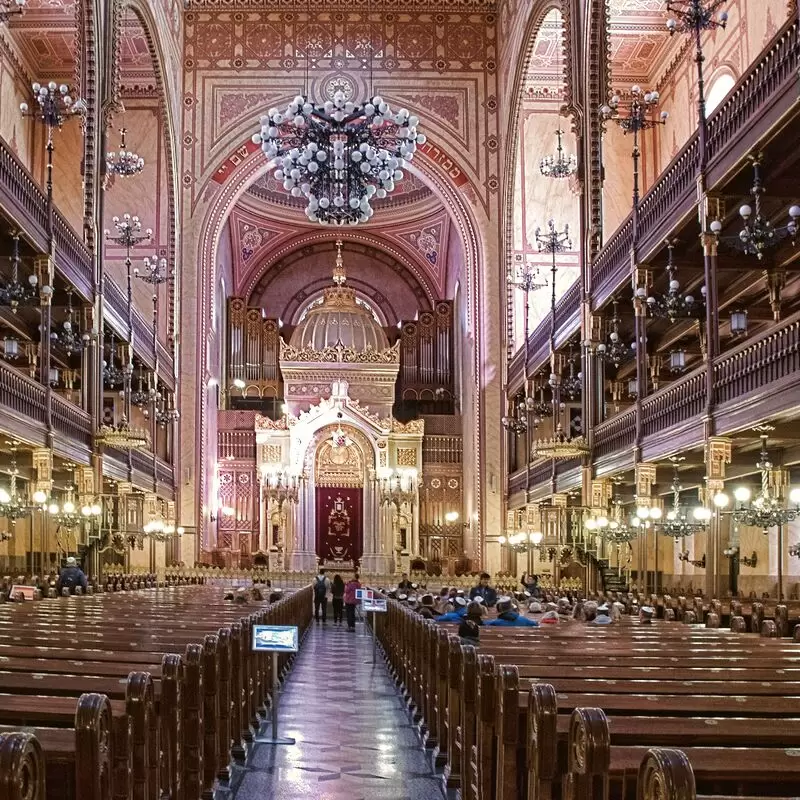
[(297, 96), (285, 111), (271, 108), (253, 142), (276, 164), (275, 178), (305, 197), (306, 216), (322, 225), (357, 225), (403, 179), (403, 167), (425, 143), (419, 119), (394, 113), (379, 96), (356, 105), (336, 92), (324, 105)]

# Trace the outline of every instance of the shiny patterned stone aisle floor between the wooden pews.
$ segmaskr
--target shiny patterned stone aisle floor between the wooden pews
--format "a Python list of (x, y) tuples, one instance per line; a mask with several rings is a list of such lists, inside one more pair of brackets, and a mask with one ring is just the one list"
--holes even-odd
[(369, 631), (312, 626), (280, 704), (297, 744), (255, 745), (235, 800), (442, 800)]

